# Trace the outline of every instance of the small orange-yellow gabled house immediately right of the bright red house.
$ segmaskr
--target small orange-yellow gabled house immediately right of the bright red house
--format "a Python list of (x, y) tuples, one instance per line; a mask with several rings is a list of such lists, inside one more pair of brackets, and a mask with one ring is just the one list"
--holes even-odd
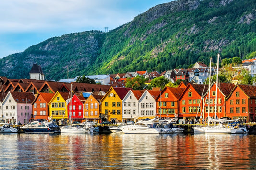
[(84, 103), (84, 118), (100, 123), (100, 100), (102, 95), (91, 94)]

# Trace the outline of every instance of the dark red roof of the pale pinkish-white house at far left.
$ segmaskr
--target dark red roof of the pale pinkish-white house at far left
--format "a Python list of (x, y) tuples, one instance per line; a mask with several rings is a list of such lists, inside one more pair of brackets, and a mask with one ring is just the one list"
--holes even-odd
[(10, 92), (10, 94), (17, 103), (32, 103), (35, 99), (33, 93)]

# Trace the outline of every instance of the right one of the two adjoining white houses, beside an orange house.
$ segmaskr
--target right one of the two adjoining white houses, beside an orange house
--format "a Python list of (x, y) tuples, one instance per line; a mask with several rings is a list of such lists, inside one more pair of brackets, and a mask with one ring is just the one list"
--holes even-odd
[(140, 116), (154, 118), (156, 116), (156, 99), (161, 91), (146, 90), (139, 99)]

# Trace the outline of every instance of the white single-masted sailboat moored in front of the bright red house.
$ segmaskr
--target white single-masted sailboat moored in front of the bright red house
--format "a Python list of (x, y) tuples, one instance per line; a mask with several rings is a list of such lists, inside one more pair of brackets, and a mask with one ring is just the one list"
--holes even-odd
[[(87, 125), (79, 124), (72, 125), (72, 84), (70, 84), (70, 107), (69, 107), (69, 117), (70, 125), (61, 127), (61, 133), (92, 133), (92, 128)], [(68, 101), (67, 101), (68, 103)]]

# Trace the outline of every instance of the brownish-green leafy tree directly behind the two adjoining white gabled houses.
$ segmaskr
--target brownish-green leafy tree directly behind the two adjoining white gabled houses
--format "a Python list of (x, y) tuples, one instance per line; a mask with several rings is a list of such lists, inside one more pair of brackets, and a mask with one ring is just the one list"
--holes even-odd
[(125, 87), (132, 88), (133, 90), (142, 90), (145, 88), (145, 82), (148, 81), (148, 78), (144, 76), (136, 76), (134, 78), (127, 78)]

